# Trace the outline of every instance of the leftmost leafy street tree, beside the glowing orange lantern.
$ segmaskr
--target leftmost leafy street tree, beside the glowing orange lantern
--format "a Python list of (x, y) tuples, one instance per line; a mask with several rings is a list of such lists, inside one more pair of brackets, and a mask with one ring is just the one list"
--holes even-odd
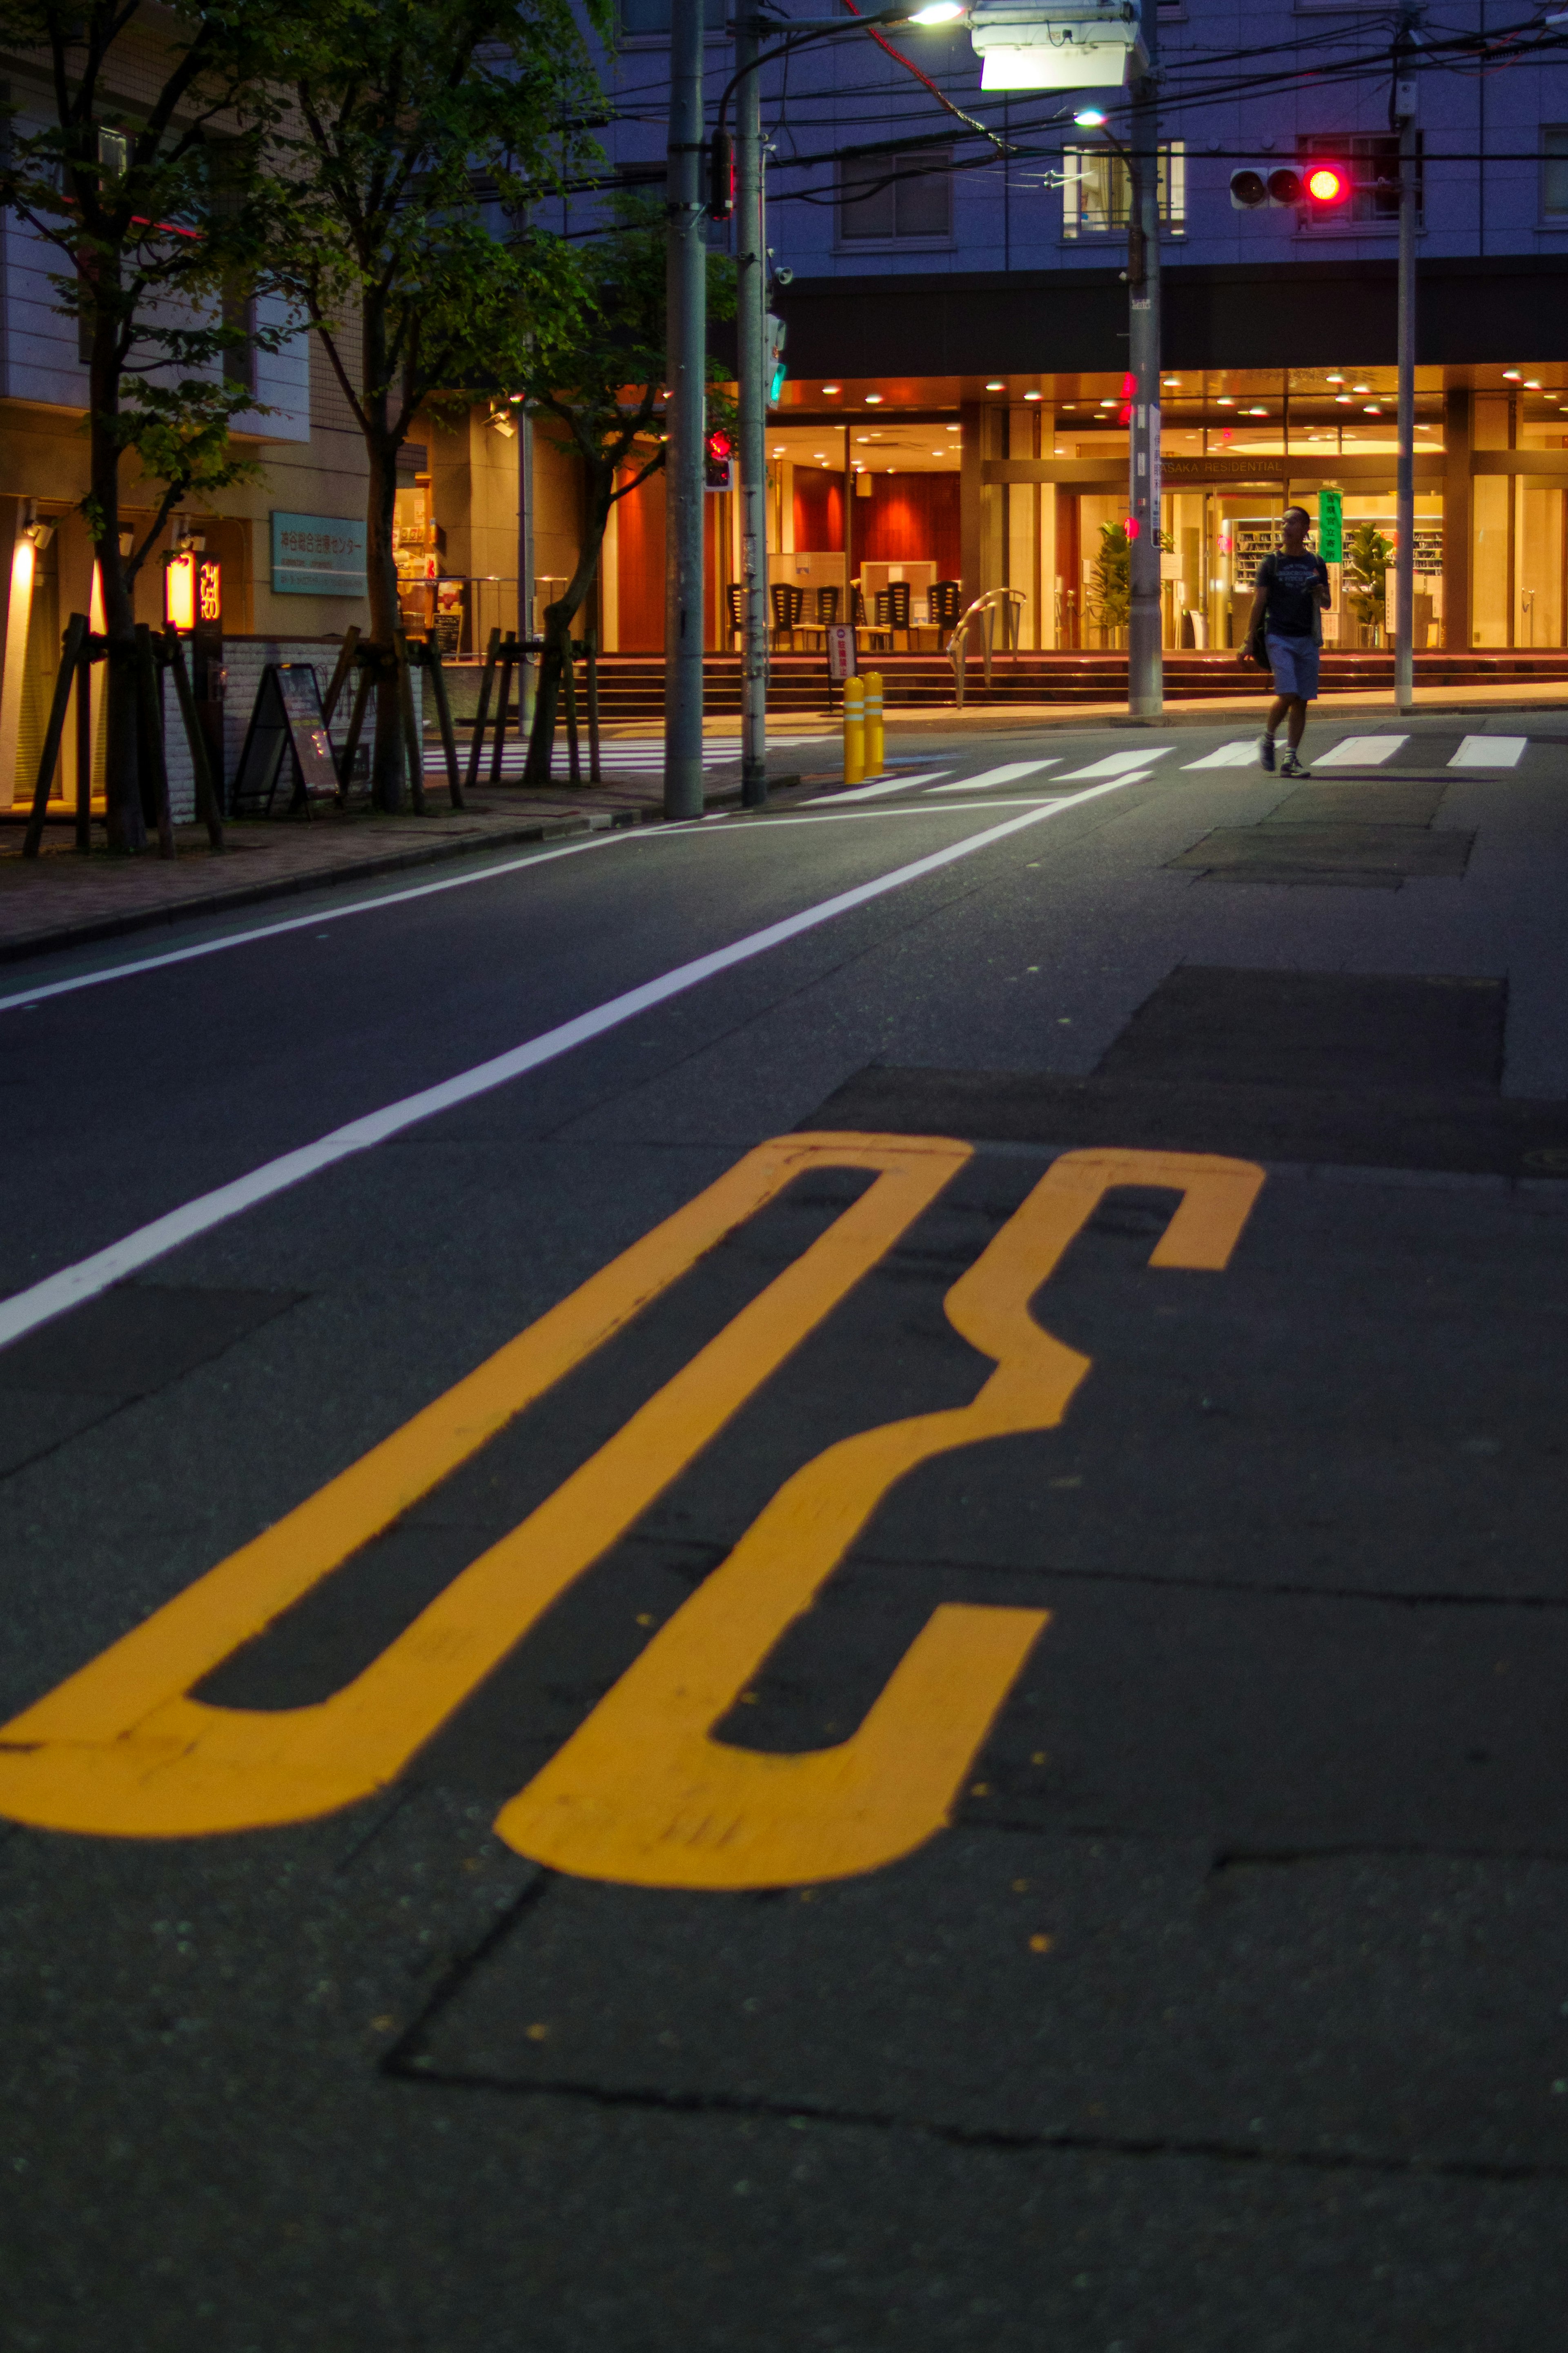
[[(223, 0), (221, 9), (169, 0), (150, 45), (136, 0), (0, 0), (7, 47), (38, 56), (49, 85), (47, 99), (5, 108), (0, 205), (61, 254), (49, 282), (56, 308), (80, 325), (89, 367), (80, 511), (103, 591), (115, 849), (146, 845), (134, 584), (179, 504), (256, 475), (230, 442), (233, 419), (254, 412), (256, 398), (226, 358), (237, 344), (275, 348), (287, 334), (254, 329), (233, 304), (235, 285), (256, 282), (273, 245), (256, 158), (275, 113), (266, 75), (277, 26), (277, 0)], [(127, 456), (153, 487), (153, 520), (122, 551)]]

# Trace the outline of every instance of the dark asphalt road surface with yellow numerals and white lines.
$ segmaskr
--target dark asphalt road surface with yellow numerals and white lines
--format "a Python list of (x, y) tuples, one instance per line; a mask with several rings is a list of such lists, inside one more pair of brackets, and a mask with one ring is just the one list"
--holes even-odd
[(1568, 720), (1307, 751), (7, 969), (7, 2353), (1561, 2348)]

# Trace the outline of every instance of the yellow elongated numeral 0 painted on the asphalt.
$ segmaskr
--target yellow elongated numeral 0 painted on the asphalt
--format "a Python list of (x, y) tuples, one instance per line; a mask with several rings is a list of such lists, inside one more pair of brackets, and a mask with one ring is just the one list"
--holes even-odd
[[(179, 1838), (306, 1821), (390, 1781), (929, 1207), (966, 1144), (778, 1136), (592, 1275), (266, 1534), (0, 1729), (0, 1814)], [(877, 1181), (350, 1685), (306, 1708), (188, 1692), (440, 1485), (795, 1176)]]

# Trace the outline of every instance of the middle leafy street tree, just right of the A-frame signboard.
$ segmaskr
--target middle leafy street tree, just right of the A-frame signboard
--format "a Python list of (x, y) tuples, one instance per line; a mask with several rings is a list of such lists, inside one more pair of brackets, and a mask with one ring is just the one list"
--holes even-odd
[[(433, 398), (520, 379), (536, 322), (576, 299), (569, 249), (512, 224), (588, 155), (564, 125), (597, 82), (569, 0), (320, 0), (289, 54), (289, 282), (364, 435), (369, 621), (390, 649), (397, 449)], [(383, 673), (376, 807), (402, 807), (402, 765)]]

